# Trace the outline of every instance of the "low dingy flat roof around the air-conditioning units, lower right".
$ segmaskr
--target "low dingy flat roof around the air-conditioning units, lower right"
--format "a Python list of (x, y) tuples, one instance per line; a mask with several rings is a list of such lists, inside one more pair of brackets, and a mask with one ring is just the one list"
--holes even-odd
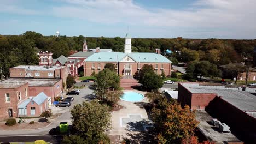
[[(234, 136), (231, 132), (230, 133), (221, 133), (217, 129), (218, 127), (214, 127), (213, 125), (209, 124), (212, 120), (212, 117), (204, 110), (197, 110), (195, 111), (196, 120), (200, 123), (197, 125), (197, 128), (202, 132), (203, 135), (206, 136), (207, 139), (213, 140), (218, 142), (223, 141), (234, 141), (240, 142), (236, 136)], [(229, 126), (229, 125), (228, 125)]]

